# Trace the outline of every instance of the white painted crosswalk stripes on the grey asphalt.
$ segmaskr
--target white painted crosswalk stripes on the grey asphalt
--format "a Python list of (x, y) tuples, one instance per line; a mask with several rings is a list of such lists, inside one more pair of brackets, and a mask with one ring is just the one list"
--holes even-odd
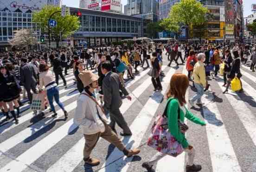
[[(173, 73), (177, 72), (173, 67), (162, 66), (162, 70), (165, 70), (166, 77), (162, 80), (163, 91), (154, 92), (151, 96), (147, 96), (145, 99), (143, 96), (150, 94), (148, 90), (151, 90), (152, 87), (151, 77), (147, 75), (147, 70), (142, 70), (141, 67), (138, 67), (141, 70), (140, 74), (138, 74), (134, 80), (129, 80), (126, 82), (126, 88), (132, 97), (132, 101), (128, 101), (127, 99), (123, 99), (123, 104), (120, 108), (121, 112), (127, 113), (131, 110), (134, 110), (134, 104), (137, 107), (140, 107), (137, 110), (139, 113), (134, 115), (132, 121), (129, 124), (130, 129), (133, 132), (133, 135), (130, 137), (122, 137), (122, 142), (125, 144), (127, 148), (137, 148), (142, 143), (144, 143), (144, 136), (148, 135), (148, 128), (150, 128), (150, 124), (152, 120), (154, 120), (157, 110), (160, 107), (161, 101), (164, 97), (166, 90), (168, 89), (170, 78)], [(186, 67), (183, 66), (182, 70), (177, 69), (179, 72), (182, 72), (187, 75)], [(65, 77), (68, 82), (67, 84), (71, 86), (73, 83), (73, 71), (68, 71), (70, 76)], [(247, 77), (251, 81), (255, 82), (256, 77), (251, 75), (249, 72), (241, 69), (243, 76)], [(143, 82), (138, 82), (141, 78), (145, 78)], [(61, 80), (61, 78), (60, 78)], [(212, 80), (211, 82), (217, 83), (218, 88), (214, 88), (223, 91), (224, 87), (222, 87), (223, 79), (218, 78), (216, 80)], [(62, 83), (62, 81), (60, 81)], [(243, 80), (243, 89), (247, 95), (251, 96), (251, 100), (256, 102), (256, 88), (255, 85), (250, 85), (250, 83)], [(136, 87), (134, 87), (136, 85)], [(131, 88), (131, 90), (130, 90)], [(223, 88), (223, 89), (222, 89)], [(78, 95), (78, 91), (69, 94), (74, 89), (76, 89), (76, 85), (74, 87), (69, 87), (68, 89), (60, 89), (59, 94), (61, 95), (60, 101), (66, 102), (65, 109), (68, 112), (73, 112), (76, 108), (76, 99), (75, 97)], [(191, 89), (187, 90), (186, 101), (188, 100), (188, 92), (192, 91)], [(214, 96), (212, 91), (207, 91), (203, 97), (202, 101), (205, 103), (205, 107), (201, 109), (204, 114), (204, 119), (207, 125), (205, 126), (206, 132), (204, 133), (205, 137), (207, 137), (208, 142), (205, 142), (205, 145), (209, 149), (210, 159), (208, 159), (207, 163), (210, 164), (212, 172), (243, 172), (245, 167), (241, 166), (241, 162), (237, 157), (236, 147), (233, 146), (232, 139), (229, 136), (229, 128), (226, 125), (226, 122), (223, 119), (223, 114), (219, 109), (218, 102), (214, 101)], [(254, 146), (256, 147), (256, 115), (253, 110), (256, 110), (256, 107), (250, 105), (243, 101), (243, 99), (238, 96), (236, 93), (233, 93), (229, 90), (228, 94), (224, 95), (228, 103), (232, 109), (237, 113), (239, 121), (243, 124), (246, 134), (249, 139), (252, 140)], [(144, 100), (145, 99), (145, 100)], [(141, 101), (143, 100), (143, 101)], [(223, 102), (224, 103), (224, 102)], [(256, 104), (256, 103), (255, 103)], [(54, 104), (55, 106), (56, 103)], [(251, 106), (251, 107), (250, 107)], [(26, 108), (24, 106), (23, 108)], [(1, 136), (5, 136), (6, 140), (0, 142), (0, 172), (78, 172), (78, 169), (84, 168), (81, 166), (83, 164), (83, 147), (84, 147), (84, 138), (82, 133), (76, 132), (77, 125), (73, 122), (73, 114), (71, 117), (67, 119), (67, 121), (63, 122), (63, 125), (54, 127), (52, 130), (47, 131), (48, 134), (42, 134), (42, 138), (38, 139), (38, 141), (31, 143), (28, 148), (23, 148), (23, 152), (15, 153), (13, 150), (18, 150), (19, 146), (25, 145), (24, 142), (28, 137), (45, 130), (48, 125), (51, 125), (57, 119), (63, 118), (64, 114), (61, 109), (57, 111), (58, 117), (55, 119), (51, 118), (50, 114), (43, 119), (40, 119), (34, 124), (30, 124), (29, 120), (34, 117), (32, 112), (23, 112), (21, 117), (19, 118), (19, 125), (14, 125), (14, 122), (9, 122), (5, 125), (0, 126), (0, 134)], [(124, 116), (128, 118), (127, 116)], [(25, 125), (26, 124), (26, 125)], [(28, 126), (28, 125), (29, 126)], [(230, 124), (229, 124), (230, 125)], [(80, 130), (80, 129), (78, 129)], [(8, 131), (8, 132), (7, 132)], [(65, 140), (69, 134), (74, 132), (78, 136), (76, 142), (67, 149), (62, 155), (58, 157), (58, 159), (53, 159), (51, 164), (48, 164), (45, 169), (40, 169), (40, 167), (34, 166), (34, 162), (41, 159), (45, 154), (55, 154), (54, 147), (60, 146), (64, 147), (65, 145), (60, 145), (59, 142)], [(196, 139), (196, 138), (195, 138)], [(70, 141), (71, 142), (71, 141)], [(103, 139), (100, 139), (98, 142), (104, 143)], [(94, 151), (97, 151), (103, 145), (96, 145)], [(242, 145), (244, 146), (244, 145)], [(147, 147), (147, 145), (144, 145)], [(107, 146), (108, 148), (108, 146)], [(50, 151), (51, 150), (51, 151)], [(150, 149), (152, 150), (152, 149)], [(11, 153), (10, 153), (11, 152)], [(9, 154), (10, 153), (10, 154)], [(56, 152), (58, 153), (58, 151)], [(103, 154), (106, 157), (107, 152), (102, 152), (99, 154)], [(139, 154), (140, 155), (140, 154)], [(138, 163), (142, 164), (142, 162), (149, 160), (151, 157), (145, 158), (147, 153), (141, 152), (141, 161)], [(250, 156), (250, 155), (248, 155)], [(10, 157), (12, 159), (10, 159)], [(97, 157), (96, 157), (97, 158)], [(145, 158), (145, 160), (144, 160)], [(117, 148), (114, 148), (110, 152), (108, 152), (107, 158), (101, 159), (101, 166), (93, 167), (92, 170), (97, 172), (133, 172), (134, 169), (132, 166), (134, 165), (133, 158), (127, 158), (123, 156), (123, 153), (119, 151)], [(156, 172), (185, 172), (186, 166), (186, 154), (183, 153), (176, 158), (171, 156), (165, 156), (163, 159), (159, 160), (156, 164)], [(253, 166), (253, 165), (252, 165)], [(30, 170), (27, 170), (27, 169)], [(248, 167), (247, 169), (251, 169), (252, 167)], [(136, 172), (145, 171), (141, 169)], [(204, 172), (204, 169), (202, 170)], [(206, 169), (205, 169), (206, 171)], [(208, 172), (208, 171), (207, 171)], [(248, 172), (254, 172), (248, 171)]]

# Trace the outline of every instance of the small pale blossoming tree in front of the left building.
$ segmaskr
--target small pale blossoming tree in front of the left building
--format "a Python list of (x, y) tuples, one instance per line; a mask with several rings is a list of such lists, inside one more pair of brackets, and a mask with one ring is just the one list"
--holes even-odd
[(37, 37), (34, 35), (33, 30), (30, 29), (16, 30), (10, 43), (12, 46), (26, 48), (28, 50), (31, 49), (32, 45), (37, 43)]

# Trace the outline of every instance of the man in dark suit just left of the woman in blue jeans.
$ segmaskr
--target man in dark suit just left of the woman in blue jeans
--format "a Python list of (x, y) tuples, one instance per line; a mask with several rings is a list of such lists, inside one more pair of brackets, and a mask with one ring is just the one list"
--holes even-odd
[(27, 63), (26, 58), (22, 58), (20, 61), (20, 85), (24, 86), (27, 92), (29, 102), (32, 103), (31, 89), (33, 93), (38, 93), (38, 91), (36, 90), (38, 77), (36, 75), (34, 67)]

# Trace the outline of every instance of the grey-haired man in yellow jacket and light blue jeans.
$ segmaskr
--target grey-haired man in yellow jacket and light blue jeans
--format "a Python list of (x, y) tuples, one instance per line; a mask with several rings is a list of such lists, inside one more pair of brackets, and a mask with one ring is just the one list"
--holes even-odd
[(189, 103), (194, 107), (194, 102), (197, 101), (197, 105), (203, 105), (201, 97), (204, 95), (204, 88), (206, 87), (206, 76), (205, 76), (205, 54), (199, 53), (197, 56), (198, 62), (195, 64), (193, 69), (193, 80), (197, 89), (197, 94), (189, 100)]

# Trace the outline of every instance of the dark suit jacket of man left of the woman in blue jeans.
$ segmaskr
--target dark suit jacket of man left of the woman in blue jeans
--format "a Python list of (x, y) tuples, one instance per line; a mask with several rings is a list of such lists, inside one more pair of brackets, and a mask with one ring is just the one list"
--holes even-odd
[(37, 75), (34, 67), (28, 63), (20, 67), (20, 83), (21, 85), (30, 85), (32, 83), (37, 83)]

